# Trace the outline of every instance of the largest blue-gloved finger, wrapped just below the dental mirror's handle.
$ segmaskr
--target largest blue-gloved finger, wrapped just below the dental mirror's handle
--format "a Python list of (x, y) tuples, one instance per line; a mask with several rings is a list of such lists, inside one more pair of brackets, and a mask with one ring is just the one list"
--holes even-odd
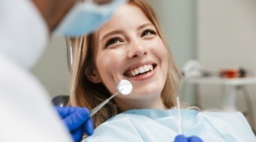
[(64, 123), (68, 126), (69, 130), (75, 130), (81, 126), (84, 121), (90, 116), (89, 110), (84, 107), (76, 107), (72, 114), (64, 118)]

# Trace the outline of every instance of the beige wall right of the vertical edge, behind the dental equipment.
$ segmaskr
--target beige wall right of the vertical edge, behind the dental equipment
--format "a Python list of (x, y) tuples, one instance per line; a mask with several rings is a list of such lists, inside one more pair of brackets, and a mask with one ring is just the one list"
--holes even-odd
[[(197, 55), (204, 69), (244, 67), (255, 75), (256, 1), (198, 0)], [(256, 84), (248, 88), (256, 118)], [(201, 85), (198, 93), (201, 106), (220, 108), (223, 87)], [(239, 111), (246, 110), (244, 96), (240, 93), (236, 106)]]

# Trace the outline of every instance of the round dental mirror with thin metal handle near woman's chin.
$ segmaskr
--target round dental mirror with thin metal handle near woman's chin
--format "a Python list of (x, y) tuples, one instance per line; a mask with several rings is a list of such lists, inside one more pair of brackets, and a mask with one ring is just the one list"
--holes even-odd
[(97, 113), (97, 111), (99, 111), (102, 108), (102, 106), (105, 106), (107, 104), (107, 102), (109, 102), (111, 100), (111, 98), (113, 98), (117, 94), (119, 94), (119, 92), (121, 92), (121, 94), (123, 94), (123, 95), (130, 94), (130, 92), (132, 91), (132, 85), (128, 80), (123, 79), (118, 83), (117, 90), (118, 91), (116, 93), (114, 93), (111, 97), (109, 97), (107, 100), (105, 100), (104, 102), (102, 102), (98, 106), (94, 107), (92, 109), (92, 111), (90, 112), (90, 116), (93, 116), (95, 113)]

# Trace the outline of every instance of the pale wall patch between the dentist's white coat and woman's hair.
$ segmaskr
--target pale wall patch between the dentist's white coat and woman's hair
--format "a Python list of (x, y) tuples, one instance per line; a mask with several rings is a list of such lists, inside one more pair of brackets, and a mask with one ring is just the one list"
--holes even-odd
[(32, 73), (50, 93), (51, 97), (69, 95), (69, 69), (64, 37), (53, 38)]

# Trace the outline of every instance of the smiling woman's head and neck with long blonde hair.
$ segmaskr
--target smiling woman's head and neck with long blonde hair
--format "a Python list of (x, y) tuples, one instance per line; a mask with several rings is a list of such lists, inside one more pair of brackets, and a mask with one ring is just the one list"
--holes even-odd
[(123, 111), (176, 106), (180, 73), (163, 37), (149, 5), (130, 1), (92, 35), (71, 39), (71, 104), (91, 109), (116, 92), (121, 79), (127, 79), (133, 91), (115, 97), (95, 115), (96, 126)]

